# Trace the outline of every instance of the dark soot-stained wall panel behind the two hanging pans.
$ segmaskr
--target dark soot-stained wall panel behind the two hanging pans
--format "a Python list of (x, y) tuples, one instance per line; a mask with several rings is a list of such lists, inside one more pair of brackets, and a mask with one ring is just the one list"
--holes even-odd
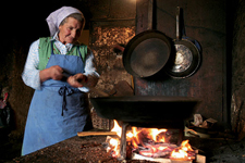
[[(196, 113), (229, 123), (226, 82), (226, 15), (232, 11), (223, 0), (166, 0), (156, 2), (156, 29), (176, 38), (176, 7), (183, 9), (186, 36), (201, 46), (201, 63), (187, 78), (173, 78), (164, 71), (149, 78), (135, 78), (136, 95), (194, 97), (201, 101)], [(148, 1), (137, 1), (136, 34), (147, 29)], [(231, 33), (231, 32), (229, 32)], [(195, 61), (194, 61), (195, 62)]]

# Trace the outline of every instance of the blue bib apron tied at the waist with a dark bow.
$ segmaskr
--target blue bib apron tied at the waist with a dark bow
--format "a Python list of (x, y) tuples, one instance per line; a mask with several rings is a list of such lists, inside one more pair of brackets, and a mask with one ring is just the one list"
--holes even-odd
[[(52, 48), (53, 49), (53, 48)], [(77, 48), (78, 50), (78, 48)], [(53, 54), (46, 68), (59, 65), (72, 75), (84, 73), (79, 57)], [(29, 106), (22, 147), (22, 155), (76, 136), (91, 128), (85, 93), (66, 82), (49, 79), (36, 90)]]

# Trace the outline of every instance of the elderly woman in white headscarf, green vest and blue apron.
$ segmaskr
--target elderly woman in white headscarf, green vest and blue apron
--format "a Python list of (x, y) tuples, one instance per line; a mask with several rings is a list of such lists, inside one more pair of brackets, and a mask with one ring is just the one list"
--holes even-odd
[[(26, 122), (22, 155), (91, 128), (83, 84), (95, 86), (99, 74), (87, 46), (77, 39), (85, 25), (83, 13), (63, 7), (47, 17), (52, 37), (32, 43), (22, 74), (36, 89)], [(65, 75), (64, 75), (65, 74)]]

